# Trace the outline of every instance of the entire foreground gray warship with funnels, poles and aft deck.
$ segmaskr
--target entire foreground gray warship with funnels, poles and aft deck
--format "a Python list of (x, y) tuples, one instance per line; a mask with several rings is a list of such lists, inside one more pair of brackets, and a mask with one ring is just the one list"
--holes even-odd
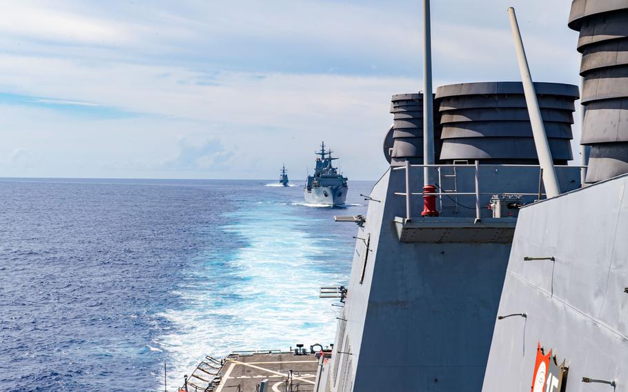
[(335, 343), (207, 357), (188, 390), (628, 391), (628, 0), (572, 2), (581, 91), (533, 83), (510, 8), (522, 81), (433, 96), (424, 9), (426, 94), (393, 96), (389, 170), (337, 217), (358, 229), (321, 291)]

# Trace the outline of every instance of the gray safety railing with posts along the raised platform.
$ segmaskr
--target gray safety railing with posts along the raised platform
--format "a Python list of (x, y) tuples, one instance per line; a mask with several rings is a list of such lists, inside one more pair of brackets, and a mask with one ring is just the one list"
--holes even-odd
[[(442, 197), (451, 197), (451, 196), (473, 196), (475, 198), (475, 222), (479, 222), (481, 220), (480, 217), (480, 197), (482, 195), (495, 195), (495, 192), (492, 193), (482, 193), (480, 191), (480, 169), (482, 167), (491, 167), (491, 168), (537, 168), (538, 169), (538, 192), (516, 192), (508, 189), (500, 190), (502, 194), (511, 194), (511, 195), (521, 195), (521, 196), (537, 196), (538, 199), (541, 199), (545, 193), (542, 192), (542, 177), (543, 170), (539, 165), (525, 165), (525, 164), (489, 164), (480, 166), (480, 161), (474, 161), (473, 164), (440, 164), (440, 165), (422, 165), (422, 164), (410, 164), (409, 161), (406, 161), (404, 166), (398, 166), (392, 168), (392, 170), (405, 170), (405, 192), (395, 192), (395, 195), (405, 196), (406, 197), (406, 221), (411, 221), (412, 219), (412, 211), (411, 211), (411, 197), (412, 196), (435, 196), (440, 200), (440, 206), (442, 208)], [(580, 170), (586, 170), (587, 166), (566, 166), (566, 165), (556, 165), (554, 166), (556, 169), (565, 169), (565, 168), (580, 168)], [(410, 172), (412, 168), (434, 168), (438, 171), (438, 192), (412, 192), (411, 191), (411, 181), (410, 181)], [(460, 168), (460, 169), (473, 169), (474, 180), (475, 180), (475, 188), (473, 192), (458, 192), (456, 191), (446, 191), (441, 187), (442, 184), (442, 168)]]

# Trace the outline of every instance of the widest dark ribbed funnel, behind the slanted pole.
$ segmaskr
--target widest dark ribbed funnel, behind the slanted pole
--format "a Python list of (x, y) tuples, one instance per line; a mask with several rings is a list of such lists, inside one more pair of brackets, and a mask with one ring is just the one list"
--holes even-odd
[[(570, 139), (578, 87), (534, 84), (555, 164), (573, 159)], [(453, 84), (436, 90), (442, 126), (440, 159), (536, 163), (538, 155), (520, 82)]]

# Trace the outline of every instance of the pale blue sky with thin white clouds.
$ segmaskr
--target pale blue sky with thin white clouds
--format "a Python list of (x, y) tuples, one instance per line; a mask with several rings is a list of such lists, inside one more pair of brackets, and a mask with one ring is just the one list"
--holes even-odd
[[(520, 80), (508, 6), (533, 79), (579, 84), (570, 5), (433, 0), (434, 88)], [(303, 179), (325, 141), (376, 179), (391, 95), (422, 90), (420, 0), (2, 7), (0, 177)]]

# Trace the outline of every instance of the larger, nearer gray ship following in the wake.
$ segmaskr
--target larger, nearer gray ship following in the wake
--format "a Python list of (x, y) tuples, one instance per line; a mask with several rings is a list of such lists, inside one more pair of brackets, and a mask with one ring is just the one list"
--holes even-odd
[(337, 158), (331, 156), (331, 150), (325, 150), (325, 142), (321, 143), (321, 150), (316, 153), (320, 158), (316, 159), (314, 175), (308, 175), (303, 188), (305, 201), (311, 204), (326, 204), (340, 206), (346, 199), (346, 177), (333, 167), (333, 161)]

